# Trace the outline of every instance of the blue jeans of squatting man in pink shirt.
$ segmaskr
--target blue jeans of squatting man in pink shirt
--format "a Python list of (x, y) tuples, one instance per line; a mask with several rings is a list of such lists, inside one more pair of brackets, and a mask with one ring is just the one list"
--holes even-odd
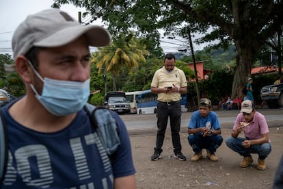
[(228, 137), (226, 139), (226, 145), (232, 151), (236, 151), (243, 157), (249, 157), (251, 153), (258, 153), (258, 158), (260, 160), (265, 160), (269, 153), (271, 153), (271, 144), (270, 142), (263, 143), (263, 144), (254, 144), (251, 145), (250, 148), (245, 148), (243, 147), (242, 142), (244, 140), (247, 140), (247, 138), (233, 138), (233, 137)]

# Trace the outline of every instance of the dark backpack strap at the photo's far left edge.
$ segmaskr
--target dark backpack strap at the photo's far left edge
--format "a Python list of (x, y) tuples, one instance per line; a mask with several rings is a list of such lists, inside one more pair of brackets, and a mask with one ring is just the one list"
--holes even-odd
[(3, 182), (8, 164), (8, 136), (5, 118), (0, 110), (0, 184)]

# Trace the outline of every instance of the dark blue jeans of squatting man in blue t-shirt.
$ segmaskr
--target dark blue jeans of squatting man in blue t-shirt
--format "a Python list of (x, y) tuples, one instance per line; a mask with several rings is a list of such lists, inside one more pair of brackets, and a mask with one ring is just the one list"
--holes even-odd
[(223, 142), (221, 135), (212, 135), (203, 137), (200, 134), (192, 134), (188, 136), (188, 142), (195, 153), (200, 153), (202, 149), (207, 149), (210, 153), (215, 153)]

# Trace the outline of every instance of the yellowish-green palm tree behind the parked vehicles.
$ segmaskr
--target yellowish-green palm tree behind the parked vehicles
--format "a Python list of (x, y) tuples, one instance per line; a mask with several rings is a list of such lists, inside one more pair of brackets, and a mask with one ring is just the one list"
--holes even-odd
[[(120, 34), (114, 39), (110, 45), (98, 48), (98, 51), (92, 54), (92, 64), (96, 64), (96, 68), (103, 68), (106, 73), (111, 73), (113, 79), (113, 91), (117, 90), (116, 77), (120, 74), (124, 77), (124, 67), (131, 71), (139, 66), (138, 62), (146, 62), (145, 55), (149, 55), (146, 46), (139, 42), (133, 34)], [(98, 70), (98, 74), (101, 69)]]

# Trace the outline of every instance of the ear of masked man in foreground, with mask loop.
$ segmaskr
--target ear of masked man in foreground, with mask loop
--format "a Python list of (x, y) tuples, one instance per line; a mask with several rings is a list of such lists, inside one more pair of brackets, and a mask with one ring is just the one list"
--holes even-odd
[(16, 58), (16, 71), (18, 72), (18, 76), (21, 77), (25, 83), (31, 83), (33, 71), (25, 56), (19, 55)]

